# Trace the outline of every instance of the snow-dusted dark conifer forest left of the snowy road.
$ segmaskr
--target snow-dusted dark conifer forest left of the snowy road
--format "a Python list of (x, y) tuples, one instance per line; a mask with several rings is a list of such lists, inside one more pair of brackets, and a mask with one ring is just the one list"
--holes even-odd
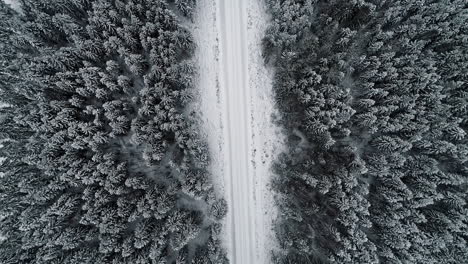
[(184, 112), (194, 2), (0, 2), (0, 262), (224, 263)]

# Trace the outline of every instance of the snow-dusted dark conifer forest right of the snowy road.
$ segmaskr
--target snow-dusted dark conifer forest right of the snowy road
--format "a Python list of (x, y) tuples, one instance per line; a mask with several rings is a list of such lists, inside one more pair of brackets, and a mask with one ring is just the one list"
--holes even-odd
[(277, 263), (467, 263), (468, 3), (268, 0)]

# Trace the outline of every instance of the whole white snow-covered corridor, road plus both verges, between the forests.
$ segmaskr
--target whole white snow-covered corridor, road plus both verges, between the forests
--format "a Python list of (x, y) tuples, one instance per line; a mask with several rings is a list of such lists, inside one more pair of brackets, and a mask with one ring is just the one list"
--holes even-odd
[(231, 263), (270, 263), (277, 210), (269, 182), (283, 136), (273, 124), (271, 69), (261, 56), (268, 22), (262, 0), (199, 0), (199, 112), (217, 190), (226, 198), (225, 244)]

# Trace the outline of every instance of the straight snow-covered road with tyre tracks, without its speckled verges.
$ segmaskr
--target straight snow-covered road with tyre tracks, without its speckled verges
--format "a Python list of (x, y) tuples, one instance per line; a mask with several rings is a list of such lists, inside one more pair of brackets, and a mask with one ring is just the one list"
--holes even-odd
[(231, 262), (256, 263), (253, 178), (250, 177), (250, 94), (245, 0), (219, 6), (221, 63), (225, 91), (225, 177), (231, 199)]

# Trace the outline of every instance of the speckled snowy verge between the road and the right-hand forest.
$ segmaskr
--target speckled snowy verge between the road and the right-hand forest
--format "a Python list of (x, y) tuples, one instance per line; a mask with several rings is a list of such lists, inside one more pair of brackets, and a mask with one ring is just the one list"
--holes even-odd
[[(246, 0), (247, 1), (247, 0)], [(284, 136), (273, 119), (277, 116), (273, 95), (273, 71), (265, 67), (262, 57), (261, 40), (268, 26), (266, 6), (263, 0), (248, 2), (248, 49), (249, 49), (249, 89), (251, 92), (252, 127), (252, 177), (254, 179), (255, 226), (257, 227), (258, 261), (271, 263), (270, 253), (276, 247), (276, 237), (272, 230), (277, 210), (270, 187), (271, 166), (283, 152)]]

